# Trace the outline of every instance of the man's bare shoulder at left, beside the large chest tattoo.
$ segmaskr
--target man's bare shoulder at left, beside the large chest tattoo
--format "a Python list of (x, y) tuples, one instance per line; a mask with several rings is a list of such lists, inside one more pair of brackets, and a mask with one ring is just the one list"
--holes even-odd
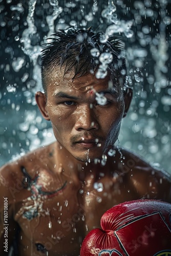
[[(25, 188), (24, 179), (26, 177), (26, 172), (28, 177), (32, 179), (40, 168), (47, 168), (46, 166), (48, 162), (50, 162), (49, 157), (51, 148), (52, 144), (38, 148), (37, 150), (2, 166), (0, 168), (1, 198), (8, 197), (9, 204), (21, 200), (24, 195), (19, 192)], [(26, 189), (23, 191), (26, 191)]]

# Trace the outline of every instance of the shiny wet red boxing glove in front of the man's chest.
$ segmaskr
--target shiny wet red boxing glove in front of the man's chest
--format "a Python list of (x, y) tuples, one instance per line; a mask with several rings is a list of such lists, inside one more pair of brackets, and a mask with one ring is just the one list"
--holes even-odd
[(80, 256), (171, 255), (171, 204), (136, 200), (118, 204), (88, 233)]

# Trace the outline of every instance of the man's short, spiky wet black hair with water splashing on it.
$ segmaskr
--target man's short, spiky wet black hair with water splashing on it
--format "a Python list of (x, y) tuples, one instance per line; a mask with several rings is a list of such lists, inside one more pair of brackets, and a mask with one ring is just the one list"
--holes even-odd
[[(94, 73), (101, 62), (101, 53), (108, 52), (113, 55), (112, 62), (108, 64), (108, 71), (123, 87), (126, 76), (125, 58), (122, 56), (123, 44), (115, 36), (109, 36), (102, 41), (103, 32), (95, 33), (91, 28), (58, 30), (51, 41), (42, 48), (41, 52), (41, 77), (42, 87), (46, 92), (45, 77), (50, 75), (56, 67), (65, 67), (64, 76), (71, 70), (74, 71), (73, 79)], [(97, 49), (98, 56), (91, 50)]]

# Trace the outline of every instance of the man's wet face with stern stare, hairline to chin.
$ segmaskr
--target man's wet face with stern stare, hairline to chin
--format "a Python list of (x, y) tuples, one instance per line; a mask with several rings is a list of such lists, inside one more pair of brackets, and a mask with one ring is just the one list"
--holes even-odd
[[(97, 79), (87, 74), (72, 80), (73, 76), (73, 72), (63, 76), (57, 68), (46, 77), (46, 111), (59, 144), (79, 161), (92, 162), (118, 137), (124, 113), (123, 93), (109, 77)], [(115, 90), (109, 89), (112, 82)], [(106, 98), (103, 105), (98, 96)]]

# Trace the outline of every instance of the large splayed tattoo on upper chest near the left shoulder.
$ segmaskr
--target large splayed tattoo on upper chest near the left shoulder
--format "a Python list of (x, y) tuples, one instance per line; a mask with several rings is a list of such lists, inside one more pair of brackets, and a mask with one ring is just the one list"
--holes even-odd
[(32, 220), (33, 218), (38, 217), (40, 215), (49, 215), (49, 210), (45, 210), (42, 208), (44, 200), (52, 198), (61, 193), (66, 188), (67, 181), (63, 182), (63, 184), (59, 186), (57, 189), (47, 191), (42, 184), (38, 184), (40, 178), (38, 174), (32, 179), (24, 167), (22, 167), (22, 173), (25, 176), (23, 186), (27, 190), (31, 191), (31, 196), (23, 201), (24, 205), (22, 209), (20, 209), (22, 210), (23, 218)]

